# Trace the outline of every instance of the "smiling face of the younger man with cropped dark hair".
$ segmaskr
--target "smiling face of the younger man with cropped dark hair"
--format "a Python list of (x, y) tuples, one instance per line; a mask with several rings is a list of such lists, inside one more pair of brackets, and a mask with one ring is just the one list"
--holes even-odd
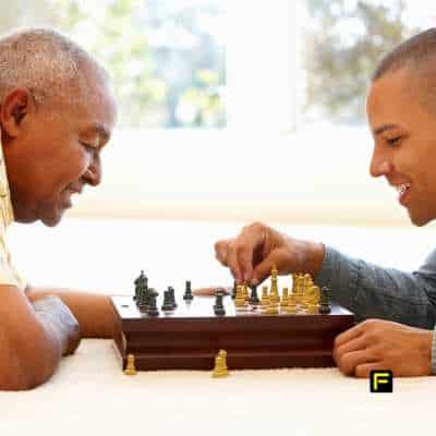
[(416, 226), (436, 218), (436, 112), (424, 108), (410, 73), (387, 73), (372, 85), (367, 117), (374, 136), (370, 172), (395, 186)]

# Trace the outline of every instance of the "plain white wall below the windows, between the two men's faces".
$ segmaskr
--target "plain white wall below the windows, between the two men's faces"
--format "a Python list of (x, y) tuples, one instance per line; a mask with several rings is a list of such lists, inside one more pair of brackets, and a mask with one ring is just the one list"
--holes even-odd
[(101, 185), (86, 189), (69, 215), (409, 225), (396, 191), (370, 177), (371, 152), (364, 128), (117, 132)]

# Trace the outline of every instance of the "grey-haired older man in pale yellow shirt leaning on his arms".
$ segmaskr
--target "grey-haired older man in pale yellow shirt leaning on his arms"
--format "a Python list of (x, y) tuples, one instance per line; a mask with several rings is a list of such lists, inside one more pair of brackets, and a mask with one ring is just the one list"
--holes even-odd
[(116, 112), (106, 72), (66, 37), (0, 39), (0, 389), (35, 387), (81, 337), (118, 331), (107, 296), (26, 286), (4, 242), (13, 220), (56, 226), (74, 193), (100, 182)]

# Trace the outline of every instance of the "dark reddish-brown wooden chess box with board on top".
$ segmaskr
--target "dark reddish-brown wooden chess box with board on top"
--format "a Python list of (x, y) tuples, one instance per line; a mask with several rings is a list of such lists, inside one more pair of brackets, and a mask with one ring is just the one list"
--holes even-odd
[(225, 296), (225, 315), (215, 315), (211, 296), (181, 300), (173, 312), (142, 313), (133, 296), (112, 296), (122, 338), (116, 351), (122, 368), (128, 354), (138, 371), (211, 370), (219, 350), (230, 370), (335, 366), (335, 337), (354, 325), (354, 315), (332, 303), (322, 314), (267, 315), (237, 310)]

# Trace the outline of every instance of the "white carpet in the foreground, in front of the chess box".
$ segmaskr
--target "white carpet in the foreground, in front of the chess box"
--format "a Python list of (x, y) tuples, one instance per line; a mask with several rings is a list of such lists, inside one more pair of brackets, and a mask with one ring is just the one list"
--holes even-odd
[(0, 435), (408, 435), (434, 432), (436, 377), (393, 393), (336, 368), (125, 376), (111, 341), (84, 340), (46, 385), (0, 392)]

